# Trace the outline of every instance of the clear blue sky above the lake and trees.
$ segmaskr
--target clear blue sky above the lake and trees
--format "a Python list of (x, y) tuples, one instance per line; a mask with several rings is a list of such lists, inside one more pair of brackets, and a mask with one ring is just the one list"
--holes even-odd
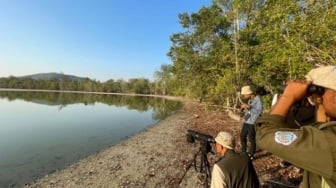
[(171, 64), (178, 14), (211, 0), (0, 0), (0, 77), (149, 78)]

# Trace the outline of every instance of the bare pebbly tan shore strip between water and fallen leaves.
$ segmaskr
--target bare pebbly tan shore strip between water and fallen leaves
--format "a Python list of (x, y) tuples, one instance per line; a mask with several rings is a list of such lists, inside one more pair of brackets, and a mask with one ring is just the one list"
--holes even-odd
[(155, 126), (24, 187), (200, 186), (194, 169), (183, 177), (185, 161), (194, 153), (186, 151), (185, 133), (197, 118), (185, 110), (190, 102), (183, 104)]

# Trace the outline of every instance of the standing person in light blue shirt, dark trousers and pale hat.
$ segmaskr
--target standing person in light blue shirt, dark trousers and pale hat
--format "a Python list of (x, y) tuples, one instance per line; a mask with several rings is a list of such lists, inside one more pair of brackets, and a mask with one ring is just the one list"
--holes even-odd
[(263, 105), (260, 96), (256, 95), (250, 86), (242, 87), (241, 95), (244, 98), (243, 101), (247, 101), (247, 103), (242, 102), (241, 104), (241, 108), (245, 111), (243, 126), (240, 132), (241, 152), (246, 152), (246, 137), (248, 136), (250, 141), (248, 154), (250, 155), (251, 159), (254, 159), (254, 153), (256, 151), (254, 123), (257, 118), (261, 116)]

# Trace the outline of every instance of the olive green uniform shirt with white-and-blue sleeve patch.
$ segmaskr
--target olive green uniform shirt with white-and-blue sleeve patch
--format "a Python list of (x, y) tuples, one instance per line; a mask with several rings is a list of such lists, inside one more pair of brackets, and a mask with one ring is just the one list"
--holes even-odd
[(336, 187), (336, 122), (287, 127), (281, 116), (259, 118), (257, 145), (304, 169), (302, 187)]

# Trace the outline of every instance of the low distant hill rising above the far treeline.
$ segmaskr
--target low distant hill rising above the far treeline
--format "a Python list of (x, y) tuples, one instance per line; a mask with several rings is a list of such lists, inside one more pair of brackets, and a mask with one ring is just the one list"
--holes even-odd
[(73, 75), (67, 74), (60, 74), (60, 73), (39, 73), (39, 74), (32, 74), (27, 76), (21, 76), (21, 78), (32, 78), (34, 80), (50, 80), (50, 79), (57, 79), (57, 80), (73, 80), (73, 81), (83, 81), (89, 78), (85, 77), (78, 77)]

